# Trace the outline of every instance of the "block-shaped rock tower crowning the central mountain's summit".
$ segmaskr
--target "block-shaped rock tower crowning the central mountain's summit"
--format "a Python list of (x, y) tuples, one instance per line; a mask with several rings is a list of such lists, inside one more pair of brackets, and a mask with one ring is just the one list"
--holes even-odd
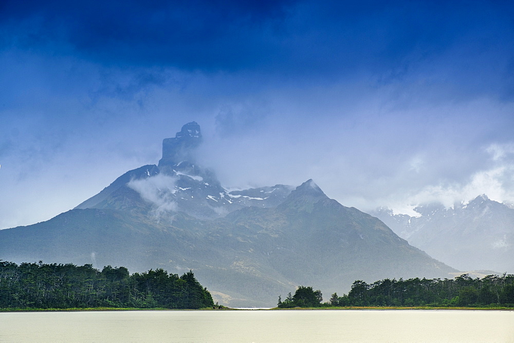
[(182, 126), (175, 138), (162, 141), (162, 159), (159, 167), (173, 165), (181, 161), (193, 161), (193, 150), (201, 144), (200, 125), (190, 122)]

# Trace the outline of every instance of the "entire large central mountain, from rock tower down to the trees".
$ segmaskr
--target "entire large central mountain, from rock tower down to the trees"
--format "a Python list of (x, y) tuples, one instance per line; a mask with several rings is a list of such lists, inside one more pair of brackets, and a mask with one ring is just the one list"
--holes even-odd
[(215, 300), (271, 307), (298, 285), (347, 292), (356, 279), (457, 272), (379, 219), (329, 199), (313, 180), (228, 192), (195, 160), (200, 128), (163, 141), (158, 165), (131, 170), (76, 208), (0, 231), (0, 258), (193, 270)]

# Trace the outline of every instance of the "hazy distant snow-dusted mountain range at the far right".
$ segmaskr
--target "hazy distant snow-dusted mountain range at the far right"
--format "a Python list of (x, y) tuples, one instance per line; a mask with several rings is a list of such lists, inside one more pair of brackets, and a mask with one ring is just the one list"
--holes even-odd
[(432, 203), (414, 208), (419, 216), (373, 212), (400, 237), (460, 270), (514, 273), (514, 209), (481, 195), (445, 208)]

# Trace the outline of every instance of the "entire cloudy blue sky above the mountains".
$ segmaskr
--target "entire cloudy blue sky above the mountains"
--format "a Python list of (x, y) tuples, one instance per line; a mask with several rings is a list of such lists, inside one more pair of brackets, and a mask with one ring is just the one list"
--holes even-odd
[(157, 163), (193, 120), (229, 187), (514, 202), (514, 5), (0, 3), (0, 228)]

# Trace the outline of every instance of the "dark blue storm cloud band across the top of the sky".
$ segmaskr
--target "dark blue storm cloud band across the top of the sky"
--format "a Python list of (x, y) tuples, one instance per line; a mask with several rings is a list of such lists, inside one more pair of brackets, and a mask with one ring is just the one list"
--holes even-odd
[[(513, 8), (486, 1), (7, 1), (0, 12), (4, 47), (54, 49), (105, 65), (328, 79), (364, 70), (382, 85), (443, 55), (448, 60), (439, 63), (476, 88), (481, 70), (491, 68), (481, 55), (498, 56), (492, 68), (513, 62), (505, 51), (514, 43)], [(455, 46), (468, 55), (452, 54)], [(461, 59), (464, 65), (455, 63)]]

